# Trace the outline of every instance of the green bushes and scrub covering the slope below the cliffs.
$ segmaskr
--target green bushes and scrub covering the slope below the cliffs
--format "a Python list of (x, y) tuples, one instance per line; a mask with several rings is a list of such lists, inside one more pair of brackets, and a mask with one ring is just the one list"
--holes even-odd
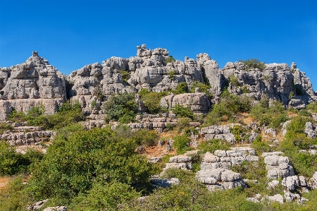
[[(234, 78), (233, 78), (234, 79)], [(194, 92), (199, 87), (208, 92), (209, 86), (193, 83), (190, 87), (180, 83), (175, 93)], [(149, 92), (141, 90), (139, 96), (151, 114), (167, 111), (159, 106), (167, 92)], [(135, 121), (138, 114), (135, 95), (122, 93), (112, 95), (104, 105), (106, 121), (129, 123)], [(269, 102), (267, 97), (252, 105), (248, 97), (232, 95), (224, 90), (220, 102), (213, 105), (206, 116), (196, 116), (187, 107), (176, 106), (171, 109), (179, 117), (175, 126), (167, 126), (173, 148), (177, 154), (192, 150), (191, 137), (198, 135), (198, 128), (190, 125), (191, 121), (204, 121), (204, 126), (224, 123), (241, 123), (240, 114), (248, 116), (259, 126), (275, 128), (279, 133), (281, 123), (290, 120), (285, 138), (279, 144), (273, 144), (259, 135), (251, 147), (257, 155), (262, 152), (281, 150), (290, 157), (297, 175), (310, 178), (317, 171), (317, 155), (302, 153), (311, 145), (317, 145), (316, 139), (308, 138), (304, 133), (308, 121), (316, 123), (311, 113), (317, 111), (317, 103), (306, 109), (285, 109), (280, 102)], [(289, 114), (293, 114), (290, 116)], [(246, 198), (261, 195), (282, 194), (283, 187), (267, 189), (267, 170), (261, 156), (259, 162), (242, 162), (231, 169), (242, 174), (242, 178), (257, 180), (247, 182), (248, 188), (235, 188), (228, 191), (207, 191), (195, 180), (199, 171), (201, 154), (215, 150), (229, 150), (230, 144), (218, 139), (199, 140), (200, 152), (192, 156), (192, 171), (169, 169), (163, 178), (176, 177), (180, 184), (170, 188), (154, 188), (149, 183), (151, 175), (159, 174), (170, 155), (163, 157), (158, 164), (147, 162), (146, 157), (138, 155), (139, 146), (153, 147), (158, 140), (166, 140), (155, 131), (132, 131), (125, 125), (111, 129), (94, 128), (85, 131), (77, 123), (84, 119), (80, 104), (67, 102), (54, 115), (45, 115), (43, 107), (34, 107), (27, 114), (13, 111), (11, 121), (24, 121), (30, 126), (42, 126), (57, 132), (46, 154), (37, 150), (27, 150), (23, 155), (15, 152), (4, 141), (0, 142), (0, 175), (11, 176), (11, 181), (0, 188), (0, 210), (24, 210), (27, 205), (49, 198), (45, 206), (67, 205), (68, 210), (317, 210), (317, 191), (310, 191), (303, 196), (309, 199), (304, 205), (297, 203), (252, 203)], [(9, 123), (0, 124), (0, 132), (13, 130)], [(242, 133), (247, 133), (242, 126), (233, 126), (231, 132), (237, 141)], [(260, 132), (260, 131), (259, 131)], [(165, 139), (164, 139), (165, 138)], [(240, 140), (242, 143), (243, 140)], [(147, 195), (147, 198), (138, 199)]]

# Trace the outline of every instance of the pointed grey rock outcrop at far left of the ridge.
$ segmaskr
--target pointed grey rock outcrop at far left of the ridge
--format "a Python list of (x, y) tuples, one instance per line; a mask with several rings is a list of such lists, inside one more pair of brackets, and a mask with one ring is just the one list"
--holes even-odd
[(0, 68), (0, 120), (6, 120), (14, 108), (29, 111), (43, 105), (46, 114), (54, 114), (66, 100), (66, 77), (37, 52), (23, 64)]

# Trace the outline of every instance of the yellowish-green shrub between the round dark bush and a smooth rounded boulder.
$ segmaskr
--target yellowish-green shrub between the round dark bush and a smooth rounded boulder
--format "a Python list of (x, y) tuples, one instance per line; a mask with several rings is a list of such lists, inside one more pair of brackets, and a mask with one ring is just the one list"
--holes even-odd
[(160, 102), (162, 97), (168, 95), (168, 92), (149, 92), (147, 89), (141, 89), (139, 95), (149, 114), (159, 114), (166, 111), (165, 108), (160, 106)]

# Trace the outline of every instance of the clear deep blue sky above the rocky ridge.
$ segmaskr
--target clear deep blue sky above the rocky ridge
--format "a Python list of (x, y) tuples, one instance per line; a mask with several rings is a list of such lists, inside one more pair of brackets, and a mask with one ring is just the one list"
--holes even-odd
[(181, 61), (207, 53), (220, 68), (249, 58), (294, 61), (317, 88), (316, 0), (0, 0), (0, 66), (37, 51), (68, 75), (111, 56), (135, 56), (143, 43)]

